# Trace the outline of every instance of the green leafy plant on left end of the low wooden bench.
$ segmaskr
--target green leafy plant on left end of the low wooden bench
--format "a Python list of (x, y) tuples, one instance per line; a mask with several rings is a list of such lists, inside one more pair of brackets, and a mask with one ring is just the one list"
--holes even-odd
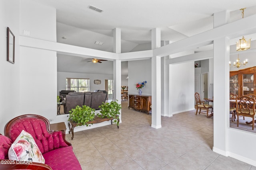
[(72, 120), (76, 122), (79, 126), (88, 126), (87, 122), (92, 121), (95, 118), (95, 109), (92, 109), (89, 106), (76, 106), (76, 108), (71, 109), (69, 113), (70, 115), (68, 121)]

